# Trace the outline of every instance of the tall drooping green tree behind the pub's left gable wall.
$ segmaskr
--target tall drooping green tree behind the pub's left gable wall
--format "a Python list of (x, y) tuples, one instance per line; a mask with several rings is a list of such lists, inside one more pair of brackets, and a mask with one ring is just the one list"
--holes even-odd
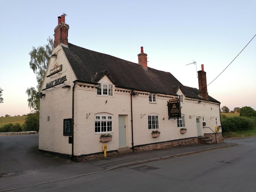
[(29, 52), (30, 62), (29, 66), (36, 74), (37, 86), (30, 87), (27, 89), (26, 93), (28, 94), (28, 107), (32, 111), (38, 112), (40, 107), (40, 99), (38, 97), (44, 75), (48, 66), (48, 62), (51, 57), (53, 50), (54, 42), (51, 37), (47, 39), (47, 44), (44, 46), (39, 46), (37, 48), (32, 47), (32, 51)]

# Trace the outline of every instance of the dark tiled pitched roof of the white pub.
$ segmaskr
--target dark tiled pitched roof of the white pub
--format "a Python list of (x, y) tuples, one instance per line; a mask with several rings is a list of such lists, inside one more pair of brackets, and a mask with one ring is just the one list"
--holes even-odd
[[(198, 96), (196, 88), (183, 86), (169, 72), (150, 67), (145, 70), (138, 63), (91, 51), (70, 43), (68, 43), (68, 48), (65, 46), (62, 48), (77, 80), (80, 82), (96, 83), (107, 74), (116, 87), (167, 95), (177, 95), (177, 90), (181, 88), (186, 97), (202, 100)], [(211, 101), (219, 102), (210, 96), (209, 98)]]

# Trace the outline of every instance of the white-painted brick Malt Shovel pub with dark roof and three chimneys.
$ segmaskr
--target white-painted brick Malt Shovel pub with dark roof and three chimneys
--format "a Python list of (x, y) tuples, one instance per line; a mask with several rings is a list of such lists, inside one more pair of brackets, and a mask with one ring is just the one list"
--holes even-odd
[[(223, 142), (221, 129), (215, 134), (220, 102), (208, 95), (203, 65), (199, 89), (184, 86), (148, 67), (143, 47), (133, 63), (68, 43), (68, 29), (61, 15), (39, 95), (40, 150), (79, 161), (103, 153), (105, 144), (107, 152), (130, 152)], [(105, 133), (111, 141), (101, 142)]]

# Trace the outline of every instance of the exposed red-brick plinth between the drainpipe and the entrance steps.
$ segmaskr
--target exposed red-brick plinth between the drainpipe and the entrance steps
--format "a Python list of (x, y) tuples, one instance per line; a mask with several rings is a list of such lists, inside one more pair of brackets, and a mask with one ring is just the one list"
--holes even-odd
[(134, 151), (145, 151), (145, 150), (152, 150), (156, 148), (168, 148), (168, 147), (176, 147), (180, 145), (192, 145), (198, 143), (198, 138), (189, 138), (189, 139), (181, 139), (181, 140), (173, 140), (173, 141), (166, 141), (163, 143), (156, 143), (150, 144), (145, 146), (138, 146), (134, 147)]

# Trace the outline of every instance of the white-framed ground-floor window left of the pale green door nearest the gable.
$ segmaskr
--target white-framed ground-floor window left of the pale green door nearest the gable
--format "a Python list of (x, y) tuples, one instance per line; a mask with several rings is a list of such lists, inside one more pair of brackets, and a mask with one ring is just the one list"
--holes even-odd
[(104, 133), (112, 131), (112, 116), (111, 115), (96, 115), (95, 116), (95, 133)]

